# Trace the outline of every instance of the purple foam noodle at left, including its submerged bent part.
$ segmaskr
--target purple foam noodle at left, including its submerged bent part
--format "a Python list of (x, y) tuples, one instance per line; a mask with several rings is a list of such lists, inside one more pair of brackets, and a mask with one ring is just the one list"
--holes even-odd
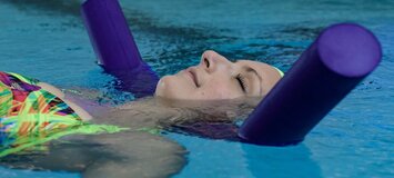
[(118, 0), (87, 0), (82, 17), (99, 65), (137, 97), (154, 92), (159, 77), (141, 59)]

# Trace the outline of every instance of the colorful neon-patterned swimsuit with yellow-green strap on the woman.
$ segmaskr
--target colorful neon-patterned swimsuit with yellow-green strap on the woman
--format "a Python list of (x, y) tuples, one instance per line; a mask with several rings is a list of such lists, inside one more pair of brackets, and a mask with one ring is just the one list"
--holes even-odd
[(39, 81), (0, 71), (0, 157), (71, 134), (118, 132), (117, 126), (83, 121)]

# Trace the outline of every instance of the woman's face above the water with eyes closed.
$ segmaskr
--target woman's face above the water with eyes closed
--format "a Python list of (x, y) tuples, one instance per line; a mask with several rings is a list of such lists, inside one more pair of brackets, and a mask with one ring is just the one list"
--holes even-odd
[(155, 96), (169, 99), (215, 100), (263, 97), (281, 79), (273, 67), (257, 61), (231, 62), (205, 51), (198, 66), (160, 79)]

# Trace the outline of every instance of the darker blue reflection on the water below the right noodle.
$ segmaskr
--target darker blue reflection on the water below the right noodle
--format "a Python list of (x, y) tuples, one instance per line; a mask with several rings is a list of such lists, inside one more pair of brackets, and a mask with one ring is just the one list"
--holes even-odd
[(247, 169), (256, 178), (323, 177), (311, 150), (303, 144), (282, 148), (243, 144), (241, 148)]

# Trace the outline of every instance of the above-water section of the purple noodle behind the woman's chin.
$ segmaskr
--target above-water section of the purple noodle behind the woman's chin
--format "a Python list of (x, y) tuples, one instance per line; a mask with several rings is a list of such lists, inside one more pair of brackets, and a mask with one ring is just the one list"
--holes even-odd
[(141, 63), (118, 0), (88, 0), (82, 16), (100, 65), (105, 70), (129, 70)]

